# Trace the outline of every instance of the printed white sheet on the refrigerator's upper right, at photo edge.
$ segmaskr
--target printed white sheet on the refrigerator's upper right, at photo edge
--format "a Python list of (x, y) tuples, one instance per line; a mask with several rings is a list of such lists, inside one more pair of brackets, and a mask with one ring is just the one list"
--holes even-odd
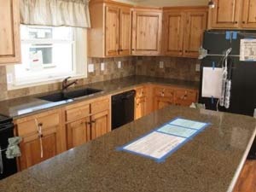
[(240, 61), (256, 61), (256, 39), (241, 39)]

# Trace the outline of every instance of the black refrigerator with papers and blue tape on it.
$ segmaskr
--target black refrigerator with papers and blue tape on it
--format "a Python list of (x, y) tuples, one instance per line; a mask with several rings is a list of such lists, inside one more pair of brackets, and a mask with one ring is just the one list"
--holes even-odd
[[(206, 31), (203, 49), (207, 50), (201, 61), (201, 88), (199, 102), (207, 109), (253, 116), (256, 108), (256, 61), (240, 61), (241, 39), (256, 39), (256, 31)], [(222, 67), (222, 60), (227, 49), (232, 49), (228, 56), (230, 65), (231, 96), (230, 108), (220, 107), (218, 99), (202, 97), (203, 67)], [(214, 66), (213, 66), (214, 65)], [(256, 139), (248, 159), (256, 160)]]

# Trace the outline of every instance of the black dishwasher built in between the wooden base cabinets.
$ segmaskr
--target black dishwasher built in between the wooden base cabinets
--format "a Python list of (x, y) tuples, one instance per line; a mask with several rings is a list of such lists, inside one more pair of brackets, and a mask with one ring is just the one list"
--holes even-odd
[(134, 120), (135, 90), (112, 96), (112, 130)]

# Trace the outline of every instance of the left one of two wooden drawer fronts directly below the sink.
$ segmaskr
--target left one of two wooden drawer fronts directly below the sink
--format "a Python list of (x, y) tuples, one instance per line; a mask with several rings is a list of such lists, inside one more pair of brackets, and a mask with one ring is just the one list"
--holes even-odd
[(82, 119), (90, 115), (90, 105), (84, 105), (79, 108), (71, 108), (66, 111), (66, 120), (72, 121)]

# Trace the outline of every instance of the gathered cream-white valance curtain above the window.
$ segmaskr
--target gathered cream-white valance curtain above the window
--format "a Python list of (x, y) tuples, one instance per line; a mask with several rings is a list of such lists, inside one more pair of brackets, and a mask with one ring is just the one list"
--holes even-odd
[(20, 0), (20, 23), (90, 27), (90, 0)]

